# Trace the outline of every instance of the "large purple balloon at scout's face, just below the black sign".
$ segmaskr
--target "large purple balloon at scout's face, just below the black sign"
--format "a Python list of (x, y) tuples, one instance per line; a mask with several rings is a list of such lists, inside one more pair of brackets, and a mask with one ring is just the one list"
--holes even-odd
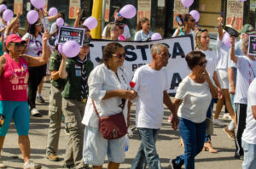
[(79, 51), (79, 43), (75, 41), (67, 41), (62, 47), (63, 54), (65, 54), (68, 58), (76, 57), (79, 54)]

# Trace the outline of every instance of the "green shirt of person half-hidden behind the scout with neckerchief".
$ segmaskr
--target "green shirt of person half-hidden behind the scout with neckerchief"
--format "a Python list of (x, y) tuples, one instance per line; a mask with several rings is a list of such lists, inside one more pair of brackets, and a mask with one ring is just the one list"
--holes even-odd
[[(49, 70), (59, 70), (61, 65), (61, 59), (62, 57), (57, 52), (52, 53), (49, 57)], [(66, 80), (59, 78), (56, 81), (51, 79), (50, 82), (54, 87), (63, 89)]]

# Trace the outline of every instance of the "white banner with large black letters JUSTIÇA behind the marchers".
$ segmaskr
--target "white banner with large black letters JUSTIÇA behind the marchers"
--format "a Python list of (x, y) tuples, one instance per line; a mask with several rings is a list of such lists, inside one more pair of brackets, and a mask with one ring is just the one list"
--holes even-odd
[[(189, 75), (190, 72), (185, 60), (185, 55), (193, 50), (192, 39), (192, 36), (187, 36), (166, 38), (151, 42), (119, 42), (125, 47), (126, 58), (124, 68), (132, 78), (134, 71), (137, 70), (138, 67), (149, 64), (152, 61), (150, 47), (156, 42), (164, 43), (169, 48), (169, 53), (171, 54), (167, 65), (170, 81), (168, 93), (175, 93), (179, 82), (181, 82), (185, 76)], [(103, 48), (109, 42), (111, 41), (93, 40), (90, 42), (94, 44), (94, 47), (90, 48), (90, 59), (94, 66), (100, 64)]]

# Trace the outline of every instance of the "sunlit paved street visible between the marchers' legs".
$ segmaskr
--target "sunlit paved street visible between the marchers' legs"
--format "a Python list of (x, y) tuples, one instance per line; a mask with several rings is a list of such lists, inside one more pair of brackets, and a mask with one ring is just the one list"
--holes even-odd
[[(32, 159), (44, 165), (43, 168), (61, 168), (65, 149), (67, 147), (67, 138), (63, 130), (61, 130), (61, 138), (58, 155), (61, 161), (51, 162), (45, 158), (45, 148), (47, 144), (47, 132), (49, 127), (48, 119), (48, 101), (49, 101), (49, 83), (44, 83), (43, 98), (46, 100), (44, 104), (37, 104), (38, 110), (43, 117), (31, 118), (30, 140), (32, 148)], [(133, 109), (134, 110), (134, 107)], [(179, 133), (173, 131), (171, 125), (167, 122), (169, 111), (166, 110), (162, 128), (156, 143), (160, 161), (164, 168), (168, 168), (170, 158), (175, 158), (183, 153), (183, 148), (179, 144)], [(220, 115), (222, 117), (222, 114)], [(134, 124), (134, 111), (131, 114), (131, 124)], [(226, 121), (228, 122), (228, 121)], [(63, 127), (63, 124), (62, 124)], [(130, 149), (126, 153), (125, 163), (120, 168), (130, 168), (131, 162), (137, 153), (140, 144), (137, 132), (130, 139)], [(239, 169), (242, 161), (233, 158), (235, 144), (223, 132), (221, 127), (214, 128), (214, 136), (212, 136), (212, 144), (218, 149), (218, 154), (209, 152), (201, 152), (195, 159), (196, 169)], [(23, 161), (18, 147), (18, 137), (15, 132), (15, 125), (12, 123), (3, 144), (3, 161), (8, 168), (22, 168)], [(106, 165), (104, 165), (106, 168)]]

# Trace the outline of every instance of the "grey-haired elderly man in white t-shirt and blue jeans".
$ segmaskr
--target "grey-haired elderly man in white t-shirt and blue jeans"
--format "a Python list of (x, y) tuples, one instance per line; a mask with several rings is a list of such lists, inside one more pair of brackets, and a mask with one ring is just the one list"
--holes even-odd
[[(164, 44), (154, 44), (151, 48), (152, 62), (137, 69), (132, 82), (137, 92), (136, 126), (142, 143), (131, 169), (160, 169), (160, 158), (157, 155), (155, 142), (160, 131), (164, 106), (174, 111), (174, 106), (167, 93), (169, 87), (165, 67), (168, 64), (169, 51)], [(129, 109), (128, 109), (129, 110)], [(172, 127), (177, 129), (177, 114), (172, 115)]]

